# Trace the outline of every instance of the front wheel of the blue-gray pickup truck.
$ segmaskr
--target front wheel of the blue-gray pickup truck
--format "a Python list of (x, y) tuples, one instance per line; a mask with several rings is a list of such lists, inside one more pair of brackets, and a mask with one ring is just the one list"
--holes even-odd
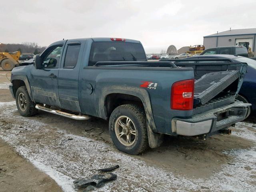
[(26, 86), (21, 86), (16, 92), (16, 106), (18, 112), (25, 117), (33, 116), (37, 114), (38, 110), (35, 108), (36, 104), (32, 102), (28, 95)]

